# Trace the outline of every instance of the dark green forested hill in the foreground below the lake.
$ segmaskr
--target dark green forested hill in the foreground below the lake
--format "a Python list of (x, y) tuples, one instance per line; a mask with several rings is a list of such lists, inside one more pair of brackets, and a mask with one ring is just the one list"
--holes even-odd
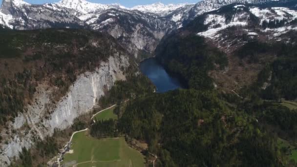
[(129, 102), (119, 127), (145, 140), (158, 166), (279, 167), (276, 140), (214, 92), (176, 90)]

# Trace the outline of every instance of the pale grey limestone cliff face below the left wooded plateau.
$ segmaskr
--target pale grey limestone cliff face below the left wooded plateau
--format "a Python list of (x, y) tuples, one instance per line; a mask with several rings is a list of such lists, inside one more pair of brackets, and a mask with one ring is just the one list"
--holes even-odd
[[(8, 137), (9, 141), (0, 148), (0, 166), (8, 166), (23, 146), (31, 147), (36, 140), (52, 135), (55, 128), (65, 129), (75, 118), (89, 112), (106, 88), (109, 89), (116, 80), (126, 79), (122, 70), (128, 65), (127, 56), (109, 57), (95, 71), (78, 76), (69, 92), (56, 104), (50, 100), (55, 88), (39, 85), (34, 95), (36, 101), (10, 124), (8, 134), (6, 130), (1, 131), (1, 136)], [(13, 129), (15, 133), (11, 133)]]

